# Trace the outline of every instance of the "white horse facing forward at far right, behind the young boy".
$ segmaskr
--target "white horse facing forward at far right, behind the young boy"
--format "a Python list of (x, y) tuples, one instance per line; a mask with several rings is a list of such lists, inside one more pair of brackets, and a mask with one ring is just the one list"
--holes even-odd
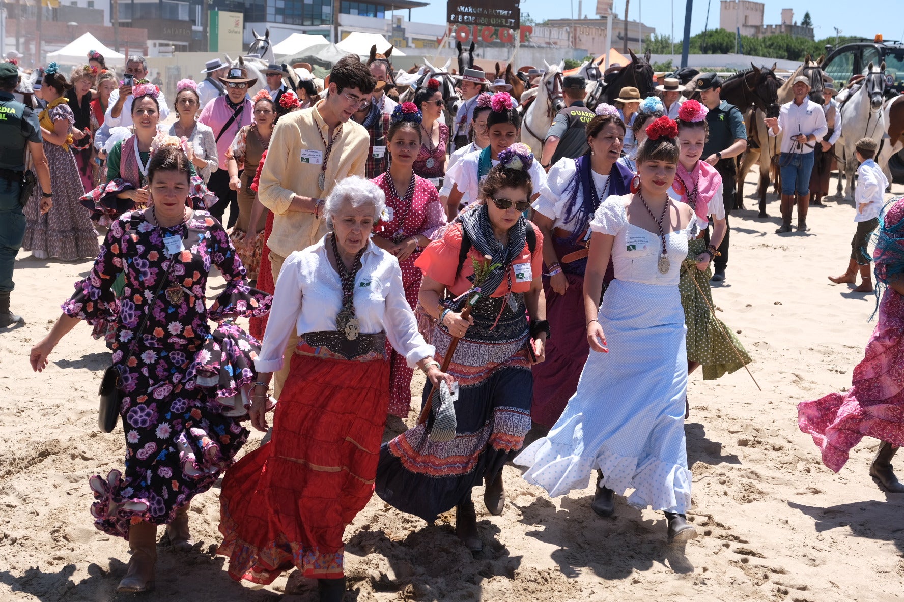
[[(857, 170), (855, 155), (857, 141), (861, 138), (872, 138), (880, 143), (887, 129), (885, 115), (882, 111), (885, 94), (885, 61), (883, 60), (878, 68), (870, 62), (863, 72), (863, 80), (860, 85), (855, 89), (844, 90), (844, 92), (847, 94), (838, 95), (841, 97), (839, 102), (842, 103), (842, 135), (835, 146), (842, 152), (838, 153), (836, 150), (835, 154), (838, 155), (839, 176), (843, 173), (847, 180), (844, 200), (852, 201), (855, 186), (853, 174)], [(876, 157), (876, 162), (882, 171), (888, 171), (888, 159), (881, 163), (880, 157)], [(886, 173), (887, 177), (889, 175)], [(842, 182), (839, 177), (839, 193), (841, 187)]]

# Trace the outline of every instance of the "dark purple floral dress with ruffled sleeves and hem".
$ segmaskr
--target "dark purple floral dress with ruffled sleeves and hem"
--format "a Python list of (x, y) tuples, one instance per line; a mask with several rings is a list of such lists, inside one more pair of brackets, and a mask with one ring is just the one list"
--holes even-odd
[[(184, 250), (174, 255), (170, 271), (163, 238), (173, 235), (184, 236)], [(204, 292), (212, 265), (226, 289), (208, 310)], [(169, 281), (154, 299), (158, 279), (168, 271)], [(117, 298), (111, 286), (119, 273), (126, 283)], [(143, 211), (123, 214), (75, 288), (62, 304), (67, 315), (117, 324), (113, 363), (122, 373), (126, 471), (91, 478), (97, 498), (91, 514), (98, 529), (127, 538), (130, 522), (169, 523), (179, 507), (213, 485), (247, 439), (240, 387), (256, 377), (259, 342), (222, 320), (262, 315), (272, 297), (248, 286), (229, 236), (206, 211), (195, 211), (187, 229), (155, 227)], [(152, 299), (126, 366), (128, 345)], [(208, 320), (220, 324), (211, 330)]]

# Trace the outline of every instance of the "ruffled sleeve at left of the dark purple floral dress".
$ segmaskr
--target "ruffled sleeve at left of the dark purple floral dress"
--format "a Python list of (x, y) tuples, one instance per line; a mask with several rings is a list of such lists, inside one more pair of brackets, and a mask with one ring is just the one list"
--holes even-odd
[(63, 313), (85, 320), (92, 326), (112, 322), (119, 312), (119, 302), (112, 290), (113, 282), (123, 271), (127, 224), (130, 214), (114, 221), (100, 245), (91, 273), (75, 283), (75, 293), (62, 304)]

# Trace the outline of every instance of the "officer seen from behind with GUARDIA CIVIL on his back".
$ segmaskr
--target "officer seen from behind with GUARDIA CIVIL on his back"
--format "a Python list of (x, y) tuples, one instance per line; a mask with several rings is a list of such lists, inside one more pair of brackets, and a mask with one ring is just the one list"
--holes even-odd
[(567, 107), (559, 111), (546, 133), (540, 162), (543, 169), (549, 170), (562, 157), (577, 159), (587, 152), (587, 125), (596, 114), (584, 106), (586, 87), (587, 81), (579, 75), (562, 79), (562, 97)]

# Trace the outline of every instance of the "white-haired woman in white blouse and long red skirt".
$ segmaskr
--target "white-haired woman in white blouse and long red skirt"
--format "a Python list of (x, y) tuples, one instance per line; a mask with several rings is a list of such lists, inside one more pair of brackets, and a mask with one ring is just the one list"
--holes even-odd
[(298, 334), (273, 416), (273, 436), (222, 485), (218, 553), (233, 579), (268, 584), (293, 566), (320, 579), (320, 599), (345, 591), (343, 532), (373, 493), (390, 403), (386, 340), (432, 384), (452, 376), (418, 332), (394, 255), (371, 241), (386, 197), (357, 176), (335, 185), (323, 213), (330, 232), (289, 255), (279, 273), (251, 396), (251, 424), (268, 428), (270, 377)]

